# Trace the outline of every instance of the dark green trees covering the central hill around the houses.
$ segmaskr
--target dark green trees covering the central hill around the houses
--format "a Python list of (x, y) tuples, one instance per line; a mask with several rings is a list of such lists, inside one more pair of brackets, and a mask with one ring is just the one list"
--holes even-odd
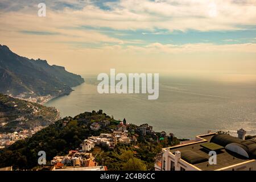
[[(99, 131), (90, 130), (92, 122), (109, 120), (110, 126)], [(63, 121), (68, 121), (67, 126), (63, 126)], [(63, 118), (45, 129), (34, 134), (26, 140), (19, 140), (10, 147), (0, 151), (0, 167), (13, 166), (19, 169), (32, 169), (38, 166), (38, 152), (46, 151), (46, 158), (49, 162), (56, 155), (67, 155), (69, 150), (79, 148), (82, 140), (100, 133), (110, 133), (110, 130), (118, 125), (118, 121), (109, 117), (102, 111), (85, 112), (76, 117)], [(137, 128), (130, 125), (131, 131)], [(129, 145), (117, 144), (115, 148), (95, 147), (93, 155), (100, 165), (107, 166), (109, 170), (153, 170), (154, 157), (161, 151), (162, 147), (179, 143), (175, 137), (156, 135), (141, 135), (135, 130), (137, 142)], [(159, 141), (158, 138), (164, 140)]]

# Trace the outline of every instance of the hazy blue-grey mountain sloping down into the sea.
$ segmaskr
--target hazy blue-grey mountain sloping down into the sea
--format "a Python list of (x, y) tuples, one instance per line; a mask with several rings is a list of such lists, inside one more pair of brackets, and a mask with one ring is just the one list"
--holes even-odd
[(71, 87), (82, 82), (81, 76), (64, 67), (16, 55), (0, 44), (0, 93), (19, 98), (57, 97), (69, 94)]

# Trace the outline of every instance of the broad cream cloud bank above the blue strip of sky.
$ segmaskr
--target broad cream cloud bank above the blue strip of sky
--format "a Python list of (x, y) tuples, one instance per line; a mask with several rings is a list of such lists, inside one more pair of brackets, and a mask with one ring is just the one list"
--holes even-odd
[[(245, 25), (256, 26), (255, 1), (120, 0), (102, 1), (105, 7), (109, 7), (102, 9), (96, 1), (57, 0), (45, 1), (47, 16), (44, 18), (37, 16), (38, 2), (40, 1), (1, 2), (8, 7), (0, 13), (2, 41), (23, 43), (33, 38), (39, 44), (147, 44), (139, 40), (138, 36), (135, 40), (123, 39), (122, 36), (113, 38), (108, 32), (101, 31), (101, 28), (116, 31), (115, 35), (118, 32), (122, 34), (119, 30), (134, 30), (134, 34), (138, 30), (143, 36), (168, 35), (174, 30), (237, 30)], [(213, 9), (217, 12), (214, 17), (209, 16), (208, 12)], [(233, 39), (223, 41), (236, 42)]]

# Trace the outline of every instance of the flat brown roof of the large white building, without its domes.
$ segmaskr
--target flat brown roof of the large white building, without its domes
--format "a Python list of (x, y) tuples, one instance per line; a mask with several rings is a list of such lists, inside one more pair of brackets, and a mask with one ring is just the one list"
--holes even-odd
[[(180, 151), (181, 159), (185, 160), (190, 164), (193, 163), (193, 166), (196, 166), (203, 171), (212, 171), (251, 160), (234, 152), (226, 150), (224, 147), (220, 146), (220, 144), (210, 143), (210, 140), (214, 135), (216, 134), (198, 136), (202, 139), (200, 142), (192, 142), (170, 147), (170, 152), (174, 154), (175, 151)], [(202, 147), (202, 144), (204, 147)], [(209, 148), (211, 147), (213, 149), (216, 149), (217, 152), (217, 164), (215, 165), (209, 165), (208, 160), (204, 160), (205, 158), (209, 159)], [(198, 160), (188, 158), (190, 153), (193, 154), (193, 156), (196, 156)]]

